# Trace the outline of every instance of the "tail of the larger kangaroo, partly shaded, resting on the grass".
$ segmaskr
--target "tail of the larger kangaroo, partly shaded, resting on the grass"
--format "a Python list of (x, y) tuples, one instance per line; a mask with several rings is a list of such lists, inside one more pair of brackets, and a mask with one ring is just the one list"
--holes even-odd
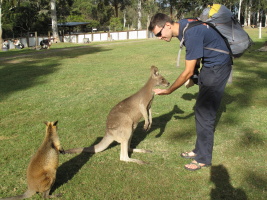
[(90, 147), (82, 147), (82, 148), (75, 148), (75, 149), (68, 149), (65, 150), (65, 153), (82, 153), (82, 152), (87, 152), (87, 153), (98, 153), (101, 151), (104, 151), (108, 146), (113, 142), (113, 137), (109, 135), (105, 135), (103, 139), (96, 145), (90, 146)]

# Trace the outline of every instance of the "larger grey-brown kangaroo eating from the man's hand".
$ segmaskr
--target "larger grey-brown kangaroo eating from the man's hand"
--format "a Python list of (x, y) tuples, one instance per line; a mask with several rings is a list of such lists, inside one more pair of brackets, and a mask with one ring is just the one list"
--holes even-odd
[(106, 134), (96, 145), (85, 148), (66, 150), (66, 153), (97, 153), (105, 150), (113, 141), (121, 143), (120, 160), (144, 164), (143, 161), (129, 158), (128, 151), (147, 153), (143, 149), (130, 149), (133, 132), (141, 117), (145, 119), (144, 129), (147, 131), (152, 124), (151, 104), (155, 86), (168, 86), (169, 82), (159, 74), (158, 68), (151, 66), (151, 76), (147, 83), (135, 94), (124, 99), (110, 111), (106, 122)]

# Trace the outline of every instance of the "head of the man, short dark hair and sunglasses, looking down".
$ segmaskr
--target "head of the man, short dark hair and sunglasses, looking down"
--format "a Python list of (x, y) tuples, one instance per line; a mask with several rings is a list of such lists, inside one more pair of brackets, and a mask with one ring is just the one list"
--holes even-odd
[(152, 31), (156, 37), (169, 42), (174, 36), (173, 25), (174, 22), (168, 15), (157, 13), (151, 18), (148, 30)]

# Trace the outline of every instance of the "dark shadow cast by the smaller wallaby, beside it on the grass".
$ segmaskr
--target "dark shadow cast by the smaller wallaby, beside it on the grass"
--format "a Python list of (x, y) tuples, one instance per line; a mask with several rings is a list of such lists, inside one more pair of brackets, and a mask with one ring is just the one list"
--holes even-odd
[[(92, 145), (96, 145), (100, 142), (101, 139), (102, 138), (97, 138)], [(82, 152), (79, 155), (60, 165), (57, 169), (55, 184), (52, 186), (50, 193), (52, 194), (56, 189), (71, 180), (93, 155), (94, 154), (92, 153)]]

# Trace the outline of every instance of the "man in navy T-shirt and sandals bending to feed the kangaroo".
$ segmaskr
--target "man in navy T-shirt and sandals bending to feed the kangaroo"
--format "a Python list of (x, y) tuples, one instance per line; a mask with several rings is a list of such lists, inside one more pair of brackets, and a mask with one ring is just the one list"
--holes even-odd
[(194, 74), (197, 61), (202, 60), (198, 79), (199, 93), (195, 105), (197, 140), (192, 151), (181, 154), (183, 158), (194, 159), (185, 165), (185, 169), (195, 171), (211, 165), (216, 113), (231, 72), (232, 59), (225, 53), (229, 52), (229, 49), (223, 38), (206, 24), (191, 27), (183, 36), (183, 30), (189, 21), (182, 19), (174, 23), (167, 15), (158, 13), (151, 18), (148, 29), (167, 42), (170, 42), (172, 37), (179, 40), (184, 37), (186, 47), (184, 71), (168, 89), (155, 89), (155, 94), (168, 95), (181, 87)]

